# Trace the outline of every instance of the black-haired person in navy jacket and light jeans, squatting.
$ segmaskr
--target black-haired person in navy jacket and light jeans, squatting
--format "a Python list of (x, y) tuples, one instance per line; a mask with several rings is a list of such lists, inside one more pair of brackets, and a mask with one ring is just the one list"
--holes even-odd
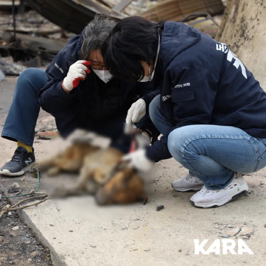
[(244, 195), (241, 173), (266, 166), (266, 93), (228, 46), (179, 22), (128, 17), (102, 45), (115, 77), (152, 81), (154, 91), (128, 111), (136, 123), (149, 110), (163, 134), (146, 150), (126, 156), (136, 168), (173, 157), (189, 170), (176, 191), (198, 191), (199, 208)]

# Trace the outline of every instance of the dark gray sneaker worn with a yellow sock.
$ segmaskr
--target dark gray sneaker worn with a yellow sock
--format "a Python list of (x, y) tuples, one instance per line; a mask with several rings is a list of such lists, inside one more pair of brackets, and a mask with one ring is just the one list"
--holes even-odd
[(0, 171), (0, 174), (8, 176), (19, 176), (29, 171), (35, 162), (34, 149), (28, 153), (24, 147), (17, 147), (11, 161), (6, 163)]

